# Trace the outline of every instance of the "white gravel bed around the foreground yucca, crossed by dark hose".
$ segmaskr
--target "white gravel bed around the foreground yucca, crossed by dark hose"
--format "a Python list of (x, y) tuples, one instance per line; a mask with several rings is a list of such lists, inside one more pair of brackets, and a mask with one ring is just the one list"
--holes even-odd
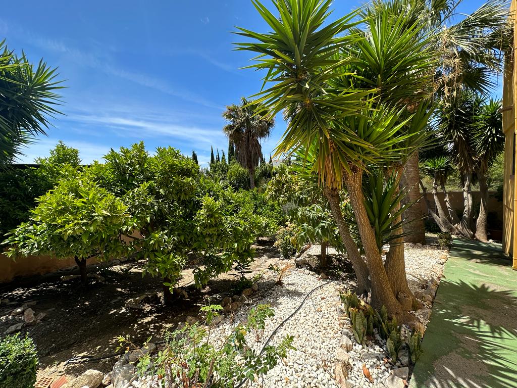
[[(304, 255), (318, 255), (319, 253), (320, 247), (314, 245)], [(329, 253), (336, 252), (329, 249)], [(447, 252), (435, 247), (405, 244), (406, 272), (412, 291), (421, 294), (430, 287), (431, 283), (437, 283), (443, 274), (446, 258)], [(290, 260), (289, 263), (294, 263), (294, 260)], [(280, 263), (281, 266), (285, 264), (287, 261)], [(266, 274), (266, 277), (270, 276), (270, 273)], [(216, 341), (224, 338), (232, 327), (246, 319), (251, 307), (258, 304), (269, 304), (275, 309), (275, 317), (266, 321), (262, 338), (257, 342), (252, 333), (247, 335), (248, 345), (260, 350), (270, 333), (298, 308), (305, 296), (312, 289), (324, 285), (326, 282), (328, 280), (323, 280), (309, 270), (296, 267), (284, 277), (282, 285), (266, 288), (265, 285), (271, 283), (261, 282), (258, 292), (252, 299), (241, 306), (233, 316), (225, 316), (222, 322), (212, 330), (210, 337)], [(393, 365), (385, 349), (385, 341), (378, 336), (374, 341), (368, 339), (365, 345), (357, 344), (348, 330), (346, 325), (348, 322), (343, 320), (344, 312), (340, 308), (342, 305), (339, 290), (349, 287), (351, 287), (350, 282), (331, 281), (314, 291), (300, 310), (280, 328), (271, 341), (271, 345), (277, 344), (284, 336), (293, 335), (293, 346), (296, 350), (288, 351), (287, 357), (281, 360), (267, 375), (247, 386), (255, 388), (339, 388), (334, 380), (335, 359), (343, 335), (347, 335), (353, 345), (353, 348), (348, 351), (352, 369), (348, 372), (347, 386), (376, 388), (391, 386), (388, 384), (387, 378), (393, 374), (394, 369), (402, 368), (405, 365), (400, 361)], [(424, 301), (425, 307), (431, 307), (431, 305), (432, 301)], [(427, 320), (417, 317), (424, 327), (427, 326)], [(363, 365), (368, 368), (373, 382), (364, 376)], [(144, 381), (134, 382), (133, 386), (155, 386), (149, 384), (149, 378)]]

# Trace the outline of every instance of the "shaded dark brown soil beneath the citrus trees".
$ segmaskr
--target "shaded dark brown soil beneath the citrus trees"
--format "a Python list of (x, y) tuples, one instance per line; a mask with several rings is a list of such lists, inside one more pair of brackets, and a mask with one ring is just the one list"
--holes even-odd
[[(267, 272), (271, 263), (280, 260), (279, 252), (268, 241), (256, 246), (256, 260), (252, 277)], [(63, 280), (62, 276), (77, 273), (75, 268), (52, 274), (25, 277), (0, 285), (0, 338), (9, 326), (23, 322), (23, 314), (10, 317), (13, 309), (35, 301), (31, 306), (35, 315), (47, 316), (33, 326), (24, 326), (21, 334), (28, 333), (36, 343), (40, 356), (38, 377), (66, 375), (75, 377), (87, 369), (110, 371), (117, 360), (118, 336), (131, 336), (134, 344), (158, 341), (164, 329), (174, 329), (188, 316), (197, 316), (201, 306), (210, 299), (220, 303), (223, 297), (238, 292), (239, 276), (228, 273), (208, 282), (202, 290), (193, 285), (192, 269), (184, 271), (179, 287), (187, 292), (187, 299), (178, 297), (167, 307), (159, 300), (159, 278), (142, 276), (144, 262), (118, 261), (88, 267), (92, 280), (81, 287), (79, 280)], [(100, 276), (100, 279), (99, 279)], [(149, 294), (140, 308), (126, 307), (133, 298)], [(119, 351), (120, 353), (121, 351)], [(107, 357), (90, 362), (73, 362), (72, 357)]]

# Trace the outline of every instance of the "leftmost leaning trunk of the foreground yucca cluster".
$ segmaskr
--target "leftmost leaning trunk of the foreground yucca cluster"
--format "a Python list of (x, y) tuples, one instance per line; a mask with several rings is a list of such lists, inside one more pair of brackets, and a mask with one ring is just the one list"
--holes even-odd
[(325, 197), (327, 198), (330, 204), (332, 216), (334, 217), (334, 220), (336, 221), (336, 224), (338, 226), (339, 235), (341, 236), (343, 245), (346, 248), (346, 254), (348, 256), (348, 259), (352, 262), (352, 266), (356, 274), (357, 289), (355, 291), (357, 294), (366, 293), (370, 290), (370, 280), (368, 279), (368, 266), (361, 258), (361, 255), (359, 255), (359, 249), (357, 248), (357, 244), (350, 235), (348, 226), (346, 225), (346, 222), (343, 219), (343, 214), (341, 213), (341, 200), (339, 198), (339, 192), (337, 189), (325, 188), (324, 193)]

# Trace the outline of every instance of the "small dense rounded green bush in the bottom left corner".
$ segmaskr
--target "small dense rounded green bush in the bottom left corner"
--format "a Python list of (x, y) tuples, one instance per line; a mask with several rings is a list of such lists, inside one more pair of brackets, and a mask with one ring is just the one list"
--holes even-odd
[(36, 383), (38, 355), (31, 338), (19, 334), (0, 341), (0, 386), (27, 388)]

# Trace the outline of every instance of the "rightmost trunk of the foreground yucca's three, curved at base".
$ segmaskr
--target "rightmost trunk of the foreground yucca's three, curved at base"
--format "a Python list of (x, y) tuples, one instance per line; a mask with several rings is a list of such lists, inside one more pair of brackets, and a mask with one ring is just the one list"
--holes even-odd
[[(402, 175), (402, 171), (399, 171), (397, 175), (397, 179), (400, 180)], [(397, 188), (394, 192), (394, 196), (399, 195), (399, 182), (395, 183)], [(400, 210), (400, 203), (396, 208), (393, 209), (393, 212), (398, 212)], [(400, 224), (402, 222), (402, 215), (398, 215), (394, 220), (394, 224)], [(388, 279), (390, 282), (391, 290), (393, 294), (400, 302), (402, 307), (405, 310), (409, 310), (412, 308), (419, 308), (421, 306), (420, 302), (414, 297), (413, 293), (409, 289), (407, 285), (407, 276), (406, 276), (406, 263), (404, 258), (404, 237), (402, 234), (404, 233), (403, 227), (398, 227), (394, 234), (400, 235), (400, 237), (395, 238), (391, 241), (388, 253), (386, 255), (386, 260), (384, 262), (384, 269), (386, 270), (386, 275), (388, 275)]]

